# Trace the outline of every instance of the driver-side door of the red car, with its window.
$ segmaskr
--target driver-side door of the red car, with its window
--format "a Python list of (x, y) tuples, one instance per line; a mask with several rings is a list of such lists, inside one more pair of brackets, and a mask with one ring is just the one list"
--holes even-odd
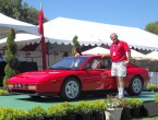
[(87, 62), (85, 65), (85, 71), (83, 75), (83, 89), (84, 91), (95, 91), (104, 89), (105, 87), (105, 69), (101, 69), (102, 59), (94, 58)]

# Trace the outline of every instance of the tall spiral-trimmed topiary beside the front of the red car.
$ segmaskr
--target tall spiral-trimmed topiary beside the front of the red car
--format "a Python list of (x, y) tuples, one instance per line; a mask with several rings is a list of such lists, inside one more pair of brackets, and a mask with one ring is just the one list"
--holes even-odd
[(5, 76), (3, 79), (3, 86), (5, 88), (7, 85), (7, 81), (12, 77), (13, 75), (19, 73), (17, 67), (19, 67), (19, 60), (15, 57), (16, 52), (17, 52), (17, 46), (14, 41), (15, 38), (15, 32), (12, 28), (8, 39), (7, 39), (7, 51), (5, 51), (5, 62), (7, 65), (4, 68), (4, 73)]

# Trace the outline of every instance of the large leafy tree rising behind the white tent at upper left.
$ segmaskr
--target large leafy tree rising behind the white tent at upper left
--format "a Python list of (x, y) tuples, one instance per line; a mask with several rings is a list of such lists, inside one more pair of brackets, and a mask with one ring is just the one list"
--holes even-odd
[[(0, 13), (10, 17), (38, 25), (39, 11), (29, 7), (27, 2), (22, 3), (22, 0), (0, 0)], [(44, 22), (48, 20), (45, 17)]]

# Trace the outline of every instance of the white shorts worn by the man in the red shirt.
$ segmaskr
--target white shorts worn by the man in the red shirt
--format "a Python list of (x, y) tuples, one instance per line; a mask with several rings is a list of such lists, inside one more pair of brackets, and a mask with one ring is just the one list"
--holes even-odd
[(126, 76), (126, 65), (123, 62), (112, 62), (111, 76)]

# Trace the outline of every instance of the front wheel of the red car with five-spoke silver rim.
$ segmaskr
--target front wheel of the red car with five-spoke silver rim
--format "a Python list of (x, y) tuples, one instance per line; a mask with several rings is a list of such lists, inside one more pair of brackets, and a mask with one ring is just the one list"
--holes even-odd
[(63, 100), (71, 101), (76, 100), (80, 97), (80, 94), (81, 94), (80, 82), (73, 76), (68, 77), (61, 87), (60, 97)]

